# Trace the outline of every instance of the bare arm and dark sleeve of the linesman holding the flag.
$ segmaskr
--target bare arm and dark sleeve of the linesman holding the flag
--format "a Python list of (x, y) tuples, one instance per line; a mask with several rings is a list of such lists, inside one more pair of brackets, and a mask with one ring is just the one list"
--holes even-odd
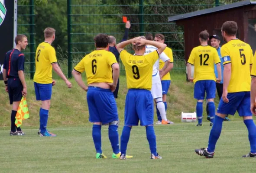
[(27, 85), (26, 85), (26, 80), (25, 80), (25, 76), (23, 73), (24, 69), (25, 69), (25, 57), (24, 57), (24, 55), (21, 54), (21, 56), (19, 56), (19, 58), (18, 58), (18, 75), (19, 75), (19, 80), (21, 81), (22, 86), (23, 86), (22, 95), (26, 96)]

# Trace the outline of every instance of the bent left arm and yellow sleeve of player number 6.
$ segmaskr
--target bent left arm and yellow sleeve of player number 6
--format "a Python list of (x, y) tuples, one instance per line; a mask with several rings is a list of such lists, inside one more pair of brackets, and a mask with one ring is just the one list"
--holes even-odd
[(84, 84), (81, 73), (84, 72), (84, 59), (82, 59), (74, 68), (72, 71), (72, 75), (75, 78), (75, 81), (78, 83), (78, 85), (85, 91), (88, 90), (88, 87)]

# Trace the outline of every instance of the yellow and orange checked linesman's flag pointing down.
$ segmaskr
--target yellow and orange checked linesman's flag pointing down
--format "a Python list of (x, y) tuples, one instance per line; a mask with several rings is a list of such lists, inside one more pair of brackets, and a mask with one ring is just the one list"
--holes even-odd
[(17, 114), (15, 118), (16, 118), (15, 125), (17, 127), (21, 126), (22, 120), (29, 119), (29, 109), (28, 109), (26, 97), (22, 97), (19, 103), (19, 108), (17, 110)]

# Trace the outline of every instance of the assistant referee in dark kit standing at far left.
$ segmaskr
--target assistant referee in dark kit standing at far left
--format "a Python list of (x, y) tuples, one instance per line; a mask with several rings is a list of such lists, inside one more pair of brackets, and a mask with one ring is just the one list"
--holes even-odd
[(3, 64), (3, 80), (5, 91), (9, 94), (10, 104), (13, 105), (11, 113), (11, 136), (25, 135), (20, 127), (15, 125), (15, 117), (22, 96), (27, 94), (27, 86), (24, 76), (25, 56), (21, 50), (26, 49), (28, 40), (26, 35), (15, 37), (15, 48), (8, 51), (5, 55)]

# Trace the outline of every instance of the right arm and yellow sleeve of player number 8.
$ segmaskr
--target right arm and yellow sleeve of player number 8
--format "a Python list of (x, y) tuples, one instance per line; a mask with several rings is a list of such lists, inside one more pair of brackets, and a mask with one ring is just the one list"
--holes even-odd
[(65, 81), (65, 83), (68, 86), (68, 88), (71, 88), (72, 84), (68, 81), (68, 79), (63, 74), (61, 68), (58, 66), (57, 58), (56, 58), (56, 53), (55, 53), (55, 49), (54, 48), (51, 48), (49, 50), (49, 60), (50, 60), (50, 63), (52, 64), (53, 70), (58, 74), (59, 77), (61, 77)]

